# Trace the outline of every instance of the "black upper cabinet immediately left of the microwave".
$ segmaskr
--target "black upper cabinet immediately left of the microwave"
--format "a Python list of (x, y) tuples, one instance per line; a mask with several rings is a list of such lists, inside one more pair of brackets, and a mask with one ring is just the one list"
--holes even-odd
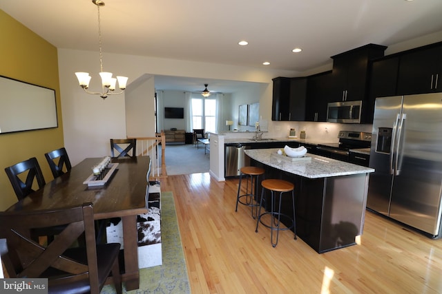
[(326, 121), (329, 90), (333, 85), (332, 71), (309, 76), (307, 83), (306, 121)]

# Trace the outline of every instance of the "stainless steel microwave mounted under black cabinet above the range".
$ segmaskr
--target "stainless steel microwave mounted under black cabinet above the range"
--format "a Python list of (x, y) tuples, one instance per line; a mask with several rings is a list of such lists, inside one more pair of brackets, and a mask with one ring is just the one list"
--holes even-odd
[(330, 123), (361, 123), (362, 101), (331, 102), (327, 105)]

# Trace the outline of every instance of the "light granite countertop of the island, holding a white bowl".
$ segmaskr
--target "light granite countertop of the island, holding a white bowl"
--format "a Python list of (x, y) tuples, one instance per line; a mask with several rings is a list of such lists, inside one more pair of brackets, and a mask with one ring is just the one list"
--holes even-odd
[(362, 167), (352, 163), (334, 160), (314, 154), (309, 161), (292, 161), (287, 156), (279, 155), (278, 148), (272, 149), (245, 149), (244, 152), (250, 158), (262, 162), (269, 167), (287, 171), (305, 178), (327, 178), (332, 176), (347, 176), (353, 174), (372, 173), (374, 169)]

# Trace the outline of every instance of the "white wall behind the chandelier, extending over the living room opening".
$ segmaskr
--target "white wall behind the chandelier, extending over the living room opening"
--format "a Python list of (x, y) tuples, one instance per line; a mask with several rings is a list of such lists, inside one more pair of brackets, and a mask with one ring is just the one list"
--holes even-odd
[[(110, 154), (109, 138), (126, 137), (125, 95), (99, 96), (85, 94), (79, 87), (75, 72), (90, 72), (90, 90), (100, 84), (99, 54), (97, 52), (58, 49), (61, 109), (63, 112), (64, 142), (73, 165), (86, 157)], [(145, 56), (104, 53), (104, 70), (128, 76), (127, 92), (131, 83), (145, 74), (206, 77), (231, 81), (263, 83), (259, 93), (263, 117), (271, 118), (271, 79), (276, 76), (296, 76), (297, 72), (261, 70), (235, 65), (218, 65), (159, 59)], [(262, 107), (262, 106), (261, 106)], [(146, 109), (149, 116), (154, 109)]]

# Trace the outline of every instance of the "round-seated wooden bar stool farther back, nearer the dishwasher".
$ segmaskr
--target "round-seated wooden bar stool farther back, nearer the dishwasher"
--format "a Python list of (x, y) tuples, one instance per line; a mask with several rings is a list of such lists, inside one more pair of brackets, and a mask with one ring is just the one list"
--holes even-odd
[[(256, 190), (258, 189), (258, 178), (265, 173), (265, 169), (262, 167), (241, 167), (240, 169), (240, 183), (238, 185), (238, 195), (236, 196), (236, 209), (238, 211), (238, 202), (246, 206), (251, 207), (251, 217), (253, 219), (258, 215), (258, 195)], [(246, 175), (246, 193), (241, 193), (241, 179)], [(250, 178), (250, 191), (249, 191), (249, 178)], [(253, 191), (253, 183), (255, 185), (255, 191)], [(245, 199), (242, 199), (245, 198)], [(255, 213), (253, 213), (253, 210)]]

